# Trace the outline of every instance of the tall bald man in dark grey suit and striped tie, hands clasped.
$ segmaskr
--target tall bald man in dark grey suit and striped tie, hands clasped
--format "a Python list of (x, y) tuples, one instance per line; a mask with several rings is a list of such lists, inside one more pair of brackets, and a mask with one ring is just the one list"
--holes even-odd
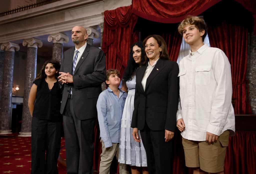
[(75, 47), (64, 52), (59, 81), (64, 85), (60, 113), (66, 140), (67, 174), (92, 174), (97, 99), (106, 76), (101, 49), (86, 43), (82, 26), (72, 29)]

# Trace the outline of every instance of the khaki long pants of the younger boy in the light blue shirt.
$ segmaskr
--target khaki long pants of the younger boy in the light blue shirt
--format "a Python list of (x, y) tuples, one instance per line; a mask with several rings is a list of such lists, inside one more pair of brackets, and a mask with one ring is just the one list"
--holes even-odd
[[(102, 144), (102, 153), (100, 155), (100, 159), (101, 159), (100, 174), (109, 174), (110, 165), (111, 165), (111, 162), (112, 162), (114, 156), (118, 160), (119, 143), (112, 143), (111, 147), (105, 148), (105, 145), (104, 145), (102, 139), (100, 140), (100, 142)], [(129, 174), (126, 164), (119, 164), (119, 173), (120, 174)]]

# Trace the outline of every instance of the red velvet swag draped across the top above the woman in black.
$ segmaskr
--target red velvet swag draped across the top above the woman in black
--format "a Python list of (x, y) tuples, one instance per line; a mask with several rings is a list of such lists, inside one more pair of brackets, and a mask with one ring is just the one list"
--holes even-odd
[(132, 0), (132, 12), (161, 23), (179, 23), (188, 14), (199, 15), (221, 0)]

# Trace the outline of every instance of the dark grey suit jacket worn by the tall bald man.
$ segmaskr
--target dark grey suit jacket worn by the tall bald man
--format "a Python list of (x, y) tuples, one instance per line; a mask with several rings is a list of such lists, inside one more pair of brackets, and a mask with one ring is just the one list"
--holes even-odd
[[(64, 52), (60, 72), (72, 74), (72, 62), (75, 47)], [(104, 52), (87, 44), (73, 74), (73, 83), (64, 84), (60, 113), (62, 114), (70, 87), (74, 113), (78, 119), (89, 119), (97, 116), (97, 100), (102, 92), (101, 83), (105, 81), (106, 64)]]

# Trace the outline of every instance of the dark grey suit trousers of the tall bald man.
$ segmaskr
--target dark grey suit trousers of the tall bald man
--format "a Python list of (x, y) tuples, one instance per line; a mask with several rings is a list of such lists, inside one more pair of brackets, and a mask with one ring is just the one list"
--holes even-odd
[(92, 174), (95, 118), (79, 120), (68, 99), (63, 113), (67, 174)]

